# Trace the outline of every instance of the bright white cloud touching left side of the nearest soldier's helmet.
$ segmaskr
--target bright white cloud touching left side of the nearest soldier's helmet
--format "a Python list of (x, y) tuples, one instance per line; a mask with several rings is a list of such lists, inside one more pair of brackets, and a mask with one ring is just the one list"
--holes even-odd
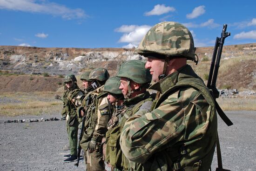
[[(131, 25), (131, 26), (134, 26), (134, 25)], [(129, 29), (130, 32), (127, 33), (128, 29), (124, 29), (124, 28), (130, 28)], [(144, 37), (144, 35), (148, 32), (150, 28), (151, 26), (147, 26), (147, 25), (135, 26), (135, 27), (129, 27), (127, 25), (123, 25), (119, 28), (116, 28), (115, 30), (120, 30), (124, 33), (119, 39), (119, 42), (130, 43), (133, 46), (138, 46), (139, 43), (141, 42), (141, 39)]]

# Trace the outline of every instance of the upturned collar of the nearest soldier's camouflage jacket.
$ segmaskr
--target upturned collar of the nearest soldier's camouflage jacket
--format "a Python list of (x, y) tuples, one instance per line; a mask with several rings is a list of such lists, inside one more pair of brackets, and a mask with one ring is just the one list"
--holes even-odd
[(161, 93), (167, 91), (170, 87), (174, 86), (178, 82), (178, 77), (181, 70), (188, 65), (182, 66), (177, 71), (171, 73), (170, 75), (166, 76), (165, 78), (159, 80), (154, 85), (151, 85), (148, 89), (160, 91)]

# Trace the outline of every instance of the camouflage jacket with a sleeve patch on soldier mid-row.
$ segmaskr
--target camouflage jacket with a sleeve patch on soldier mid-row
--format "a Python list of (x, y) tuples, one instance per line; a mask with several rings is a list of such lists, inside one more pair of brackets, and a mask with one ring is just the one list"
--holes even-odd
[(107, 125), (108, 121), (111, 118), (111, 105), (107, 99), (107, 92), (103, 92), (103, 87), (95, 89), (92, 92), (89, 92), (85, 97), (88, 96), (92, 98), (90, 105), (85, 106), (85, 100), (83, 107), (86, 108), (86, 121), (85, 121), (85, 131), (80, 142), (80, 145), (83, 150), (88, 149), (88, 144), (91, 139), (101, 143), (103, 137), (105, 137), (106, 132), (108, 131)]

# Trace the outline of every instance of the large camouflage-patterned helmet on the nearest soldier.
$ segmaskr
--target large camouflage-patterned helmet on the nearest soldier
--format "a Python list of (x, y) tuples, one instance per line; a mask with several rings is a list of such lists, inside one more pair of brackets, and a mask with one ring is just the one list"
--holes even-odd
[(195, 60), (194, 40), (189, 29), (171, 21), (153, 26), (141, 40), (136, 52), (149, 58), (165, 59), (169, 56)]

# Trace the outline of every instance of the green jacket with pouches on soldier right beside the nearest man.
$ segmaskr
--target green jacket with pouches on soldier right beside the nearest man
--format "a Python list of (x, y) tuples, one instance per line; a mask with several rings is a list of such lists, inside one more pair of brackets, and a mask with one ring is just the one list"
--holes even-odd
[[(127, 158), (122, 154), (120, 147), (121, 130), (125, 121), (139, 111), (142, 104), (147, 101), (153, 101), (149, 92), (139, 94), (131, 99), (126, 99), (122, 108), (113, 113), (108, 123), (108, 132), (106, 133), (107, 154), (106, 161), (119, 170), (130, 170), (130, 164)], [(149, 111), (150, 109), (148, 109)], [(135, 163), (134, 163), (135, 164)], [(136, 164), (135, 164), (136, 165)], [(140, 164), (141, 165), (141, 164)], [(136, 166), (139, 167), (139, 166)]]

